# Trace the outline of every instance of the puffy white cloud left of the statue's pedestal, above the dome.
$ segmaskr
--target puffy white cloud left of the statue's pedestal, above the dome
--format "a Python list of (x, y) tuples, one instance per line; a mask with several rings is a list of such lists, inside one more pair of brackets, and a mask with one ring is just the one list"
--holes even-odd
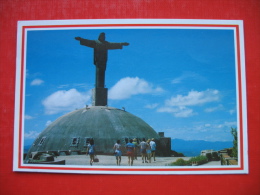
[(89, 93), (83, 94), (76, 89), (70, 89), (68, 91), (56, 91), (43, 100), (42, 104), (45, 107), (46, 114), (57, 114), (72, 111), (76, 108), (83, 108), (89, 100)]

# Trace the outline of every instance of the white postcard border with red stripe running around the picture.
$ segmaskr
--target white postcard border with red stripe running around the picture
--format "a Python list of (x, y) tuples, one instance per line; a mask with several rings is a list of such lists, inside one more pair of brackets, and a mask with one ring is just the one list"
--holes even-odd
[[(86, 26), (85, 26), (86, 25)], [(89, 27), (89, 25), (92, 25)], [(103, 26), (102, 26), (103, 25)], [(111, 25), (111, 26), (106, 26)], [(115, 25), (115, 26), (113, 26)], [(122, 25), (122, 26), (120, 26)], [(136, 26), (132, 26), (136, 25)], [(151, 25), (151, 26), (142, 26)], [(158, 25), (158, 26), (157, 26)], [(165, 26), (163, 26), (165, 25)], [(173, 26), (169, 26), (173, 25)], [(175, 25), (175, 26), (174, 26)], [(179, 25), (179, 26), (178, 26)], [(182, 25), (182, 26), (181, 26)], [(194, 26), (192, 26), (194, 25)], [(211, 26), (208, 27), (207, 25)], [(42, 26), (42, 28), (39, 28)], [(51, 28), (52, 26), (52, 28)], [(56, 27), (53, 27), (56, 26)], [(183, 28), (183, 29), (233, 29), (236, 49), (236, 87), (237, 87), (237, 121), (239, 165), (237, 166), (199, 166), (194, 167), (108, 167), (98, 166), (89, 168), (86, 166), (57, 166), (57, 165), (28, 165), (23, 164), (23, 122), (25, 102), (25, 74), (26, 74), (26, 43), (27, 31), (29, 30), (55, 30), (55, 29), (116, 29), (116, 28)], [(81, 26), (81, 27), (79, 27)], [(83, 27), (85, 26), (85, 27)], [(221, 26), (221, 27), (220, 27)], [(26, 29), (28, 27), (28, 29)], [(25, 31), (23, 31), (25, 30)], [(239, 32), (237, 32), (239, 31)], [(26, 35), (25, 35), (26, 34)], [(237, 37), (239, 35), (239, 37)], [(24, 36), (24, 37), (23, 37)], [(237, 43), (239, 41), (239, 43)], [(238, 61), (239, 60), (239, 61)], [(24, 65), (23, 67), (21, 65)], [(23, 68), (23, 69), (22, 69)], [(240, 75), (239, 75), (240, 73)], [(21, 80), (22, 79), (22, 80)], [(22, 82), (22, 83), (21, 83)], [(240, 99), (241, 98), (241, 99)], [(21, 101), (22, 99), (22, 101)], [(241, 103), (241, 105), (239, 104)], [(248, 143), (247, 143), (247, 100), (246, 100), (246, 76), (245, 76), (245, 52), (244, 31), (241, 20), (186, 20), (186, 19), (93, 19), (93, 20), (40, 20), (19, 21), (17, 31), (17, 57), (16, 57), (16, 88), (15, 88), (15, 120), (14, 120), (14, 152), (13, 170), (24, 172), (49, 172), (49, 173), (89, 173), (89, 174), (246, 174), (248, 173)], [(242, 110), (242, 112), (240, 112)], [(242, 121), (241, 121), (242, 120)], [(240, 124), (242, 124), (240, 126)], [(242, 137), (241, 137), (242, 136)], [(242, 138), (242, 139), (241, 139)], [(241, 164), (242, 162), (242, 164)]]

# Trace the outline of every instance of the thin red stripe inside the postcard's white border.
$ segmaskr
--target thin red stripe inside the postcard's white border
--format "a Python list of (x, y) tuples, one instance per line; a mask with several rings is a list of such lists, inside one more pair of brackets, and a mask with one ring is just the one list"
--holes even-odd
[[(24, 92), (24, 56), (25, 56), (25, 36), (26, 29), (31, 28), (79, 28), (79, 27), (232, 27), (235, 28), (236, 31), (236, 45), (237, 45), (237, 78), (238, 78), (238, 99), (239, 99), (239, 121), (240, 121), (240, 167), (227, 167), (227, 168), (67, 168), (67, 167), (31, 167), (31, 166), (22, 166), (21, 157), (22, 157), (22, 126), (23, 126), (23, 92)], [(27, 25), (22, 27), (22, 52), (21, 52), (21, 79), (20, 79), (20, 116), (19, 116), (19, 159), (18, 159), (18, 168), (19, 169), (40, 169), (40, 170), (67, 170), (67, 171), (116, 171), (118, 173), (123, 171), (239, 171), (244, 170), (244, 143), (243, 143), (243, 107), (242, 107), (242, 79), (241, 79), (241, 56), (240, 56), (240, 33), (239, 33), (239, 25), (229, 25), (229, 24), (86, 24), (86, 25)], [(144, 173), (145, 174), (145, 173)], [(192, 174), (192, 173), (190, 173)], [(206, 174), (206, 173), (205, 173)], [(231, 174), (231, 173), (230, 173)]]

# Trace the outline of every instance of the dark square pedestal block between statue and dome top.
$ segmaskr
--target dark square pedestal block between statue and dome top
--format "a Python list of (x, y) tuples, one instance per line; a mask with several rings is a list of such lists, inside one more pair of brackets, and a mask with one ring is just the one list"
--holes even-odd
[(92, 106), (107, 106), (107, 88), (92, 89)]

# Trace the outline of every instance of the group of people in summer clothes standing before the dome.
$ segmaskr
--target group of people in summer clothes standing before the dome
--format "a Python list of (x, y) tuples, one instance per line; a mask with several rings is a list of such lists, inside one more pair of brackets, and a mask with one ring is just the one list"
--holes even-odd
[[(128, 156), (128, 165), (133, 166), (134, 160), (137, 160), (138, 152), (141, 153), (142, 163), (151, 163), (152, 158), (155, 160), (155, 151), (156, 151), (156, 143), (154, 138), (148, 139), (145, 141), (145, 138), (142, 139), (142, 142), (138, 144), (137, 139), (130, 139), (129, 142), (125, 145), (126, 154)], [(122, 145), (120, 144), (120, 140), (117, 140), (115, 143), (113, 150), (114, 155), (116, 157), (116, 164), (119, 166), (121, 164), (122, 157)], [(94, 162), (95, 157), (95, 145), (94, 140), (91, 139), (88, 147), (87, 147), (87, 155), (90, 156), (90, 165)]]

